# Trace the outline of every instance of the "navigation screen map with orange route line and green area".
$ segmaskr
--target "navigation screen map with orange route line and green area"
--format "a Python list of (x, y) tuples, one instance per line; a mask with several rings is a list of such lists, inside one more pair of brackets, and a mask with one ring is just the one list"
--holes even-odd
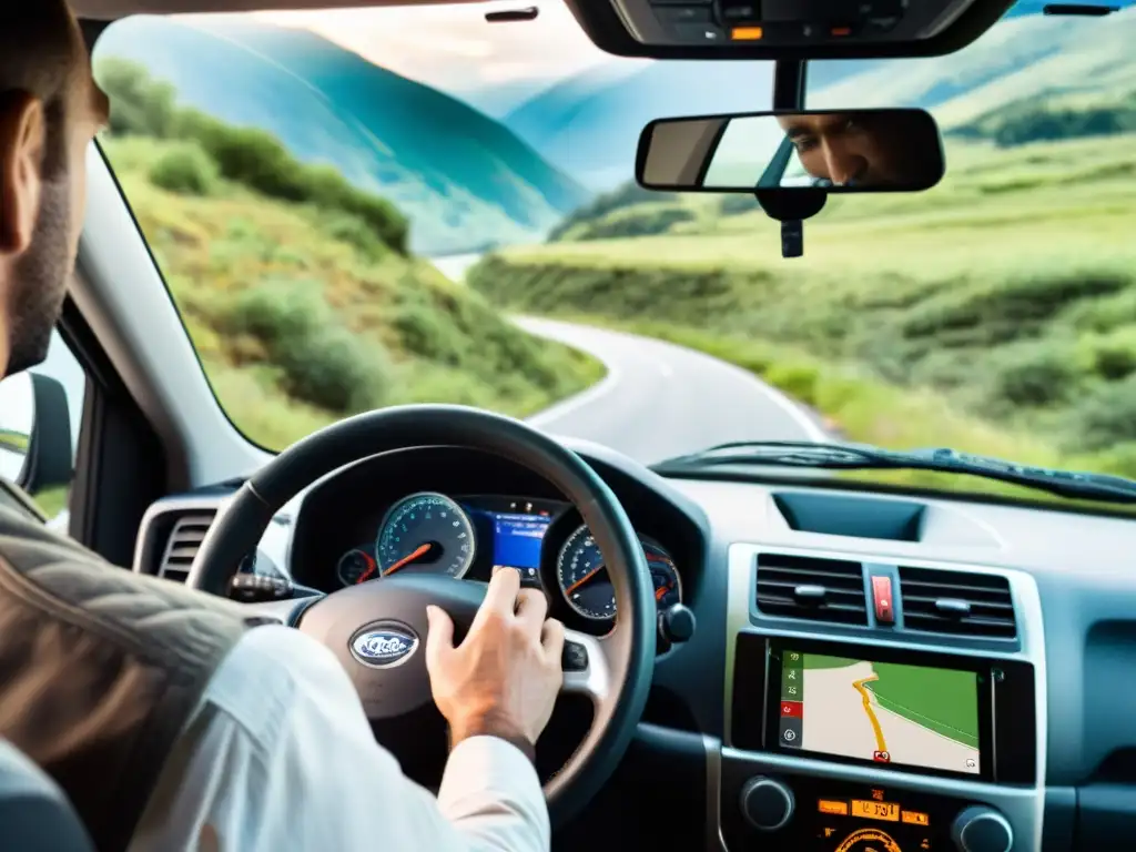
[(780, 744), (978, 774), (978, 676), (786, 650)]

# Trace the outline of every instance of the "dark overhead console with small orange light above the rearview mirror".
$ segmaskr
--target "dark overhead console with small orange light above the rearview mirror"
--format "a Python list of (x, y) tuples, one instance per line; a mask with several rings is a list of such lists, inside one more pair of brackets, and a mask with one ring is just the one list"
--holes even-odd
[(825, 59), (959, 50), (997, 20), (1010, 2), (569, 0), (569, 5), (600, 48), (623, 56)]

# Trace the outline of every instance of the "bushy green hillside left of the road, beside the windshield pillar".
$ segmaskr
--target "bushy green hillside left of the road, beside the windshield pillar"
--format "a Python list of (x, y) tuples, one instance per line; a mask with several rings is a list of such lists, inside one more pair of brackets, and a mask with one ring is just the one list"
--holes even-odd
[(386, 404), (526, 415), (602, 374), (346, 211), (225, 178), (195, 143), (101, 142), (215, 391), (262, 445)]

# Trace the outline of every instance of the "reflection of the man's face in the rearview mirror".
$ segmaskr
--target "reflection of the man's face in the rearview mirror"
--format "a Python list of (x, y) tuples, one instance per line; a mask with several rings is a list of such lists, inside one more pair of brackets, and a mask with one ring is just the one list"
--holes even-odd
[(805, 172), (836, 186), (911, 186), (919, 182), (926, 157), (914, 150), (926, 137), (904, 112), (818, 112), (779, 116)]

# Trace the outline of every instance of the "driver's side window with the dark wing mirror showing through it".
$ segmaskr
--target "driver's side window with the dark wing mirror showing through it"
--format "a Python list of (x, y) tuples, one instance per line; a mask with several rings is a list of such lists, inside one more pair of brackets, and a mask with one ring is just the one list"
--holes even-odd
[[(50, 390), (36, 389), (31, 374), (58, 384)], [(43, 364), (0, 382), (0, 478), (27, 485), (30, 496), (49, 518), (50, 526), (61, 532), (66, 532), (69, 520), (67, 503), (85, 391), (86, 375), (58, 332), (52, 334)], [(33, 435), (41, 451), (36, 458), (50, 462), (40, 465), (40, 475), (45, 474), (50, 479), (42, 487), (28, 483)]]

